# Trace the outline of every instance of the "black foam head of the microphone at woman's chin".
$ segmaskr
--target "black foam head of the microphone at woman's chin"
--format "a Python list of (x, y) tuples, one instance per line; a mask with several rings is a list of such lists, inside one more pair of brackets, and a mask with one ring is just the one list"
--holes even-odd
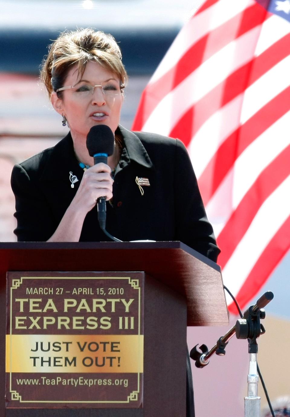
[(90, 156), (96, 153), (106, 153), (108, 156), (114, 151), (114, 135), (106, 125), (93, 126), (88, 132), (86, 146)]

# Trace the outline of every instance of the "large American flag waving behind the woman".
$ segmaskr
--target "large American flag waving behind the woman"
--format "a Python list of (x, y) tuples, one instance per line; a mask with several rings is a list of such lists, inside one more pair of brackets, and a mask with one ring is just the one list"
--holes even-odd
[(187, 146), (224, 285), (245, 306), (290, 248), (290, 0), (204, 1), (132, 128)]

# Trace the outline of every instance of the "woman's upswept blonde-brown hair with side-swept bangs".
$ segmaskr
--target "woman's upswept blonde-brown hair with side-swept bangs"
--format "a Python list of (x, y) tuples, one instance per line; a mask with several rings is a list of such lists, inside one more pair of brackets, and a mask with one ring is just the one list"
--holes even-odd
[[(53, 91), (63, 87), (73, 65), (78, 66), (78, 76), (82, 76), (88, 61), (94, 60), (118, 76), (123, 90), (128, 76), (121, 59), (121, 50), (112, 35), (100, 30), (95, 32), (91, 28), (66, 31), (49, 46), (40, 79), (50, 97)], [(57, 94), (61, 97), (61, 92)]]

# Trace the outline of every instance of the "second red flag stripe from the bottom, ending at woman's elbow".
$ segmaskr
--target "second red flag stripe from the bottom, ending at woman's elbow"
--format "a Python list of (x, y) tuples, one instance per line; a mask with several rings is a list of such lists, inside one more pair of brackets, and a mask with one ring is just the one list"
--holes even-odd
[(290, 145), (275, 158), (247, 191), (218, 236), (222, 248), (219, 265), (224, 268), (264, 201), (290, 175)]

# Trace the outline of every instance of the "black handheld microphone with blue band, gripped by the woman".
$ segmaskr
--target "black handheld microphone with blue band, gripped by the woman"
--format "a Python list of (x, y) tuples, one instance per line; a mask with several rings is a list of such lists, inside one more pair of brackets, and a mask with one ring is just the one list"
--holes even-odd
[[(86, 146), (90, 156), (93, 156), (93, 163), (108, 163), (108, 156), (114, 151), (114, 135), (106, 125), (93, 126), (88, 132)], [(98, 222), (101, 229), (106, 228), (106, 197), (97, 199)]]

